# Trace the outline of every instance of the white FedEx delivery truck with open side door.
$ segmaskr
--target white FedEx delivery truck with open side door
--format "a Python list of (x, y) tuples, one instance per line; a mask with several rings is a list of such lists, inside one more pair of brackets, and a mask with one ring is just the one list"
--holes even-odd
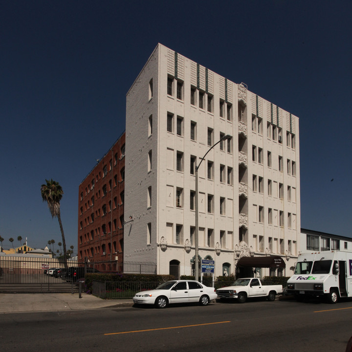
[(298, 256), (287, 292), (298, 300), (325, 296), (330, 303), (352, 297), (352, 252), (339, 250), (304, 253)]

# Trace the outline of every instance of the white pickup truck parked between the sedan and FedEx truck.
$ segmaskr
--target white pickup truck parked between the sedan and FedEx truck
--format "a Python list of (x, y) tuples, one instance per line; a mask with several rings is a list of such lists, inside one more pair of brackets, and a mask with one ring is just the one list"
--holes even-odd
[(283, 292), (282, 285), (263, 285), (257, 278), (238, 279), (233, 286), (217, 289), (218, 298), (221, 301), (228, 298), (236, 298), (238, 302), (244, 303), (247, 298), (266, 297), (268, 301), (274, 301), (277, 294)]

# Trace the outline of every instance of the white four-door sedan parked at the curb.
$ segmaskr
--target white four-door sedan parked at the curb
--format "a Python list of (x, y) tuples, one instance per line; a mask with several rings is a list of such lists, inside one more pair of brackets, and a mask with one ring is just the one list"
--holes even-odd
[(193, 280), (174, 280), (163, 283), (154, 290), (136, 293), (133, 303), (155, 305), (157, 308), (166, 308), (172, 303), (191, 302), (207, 306), (217, 297), (214, 287), (207, 287)]

